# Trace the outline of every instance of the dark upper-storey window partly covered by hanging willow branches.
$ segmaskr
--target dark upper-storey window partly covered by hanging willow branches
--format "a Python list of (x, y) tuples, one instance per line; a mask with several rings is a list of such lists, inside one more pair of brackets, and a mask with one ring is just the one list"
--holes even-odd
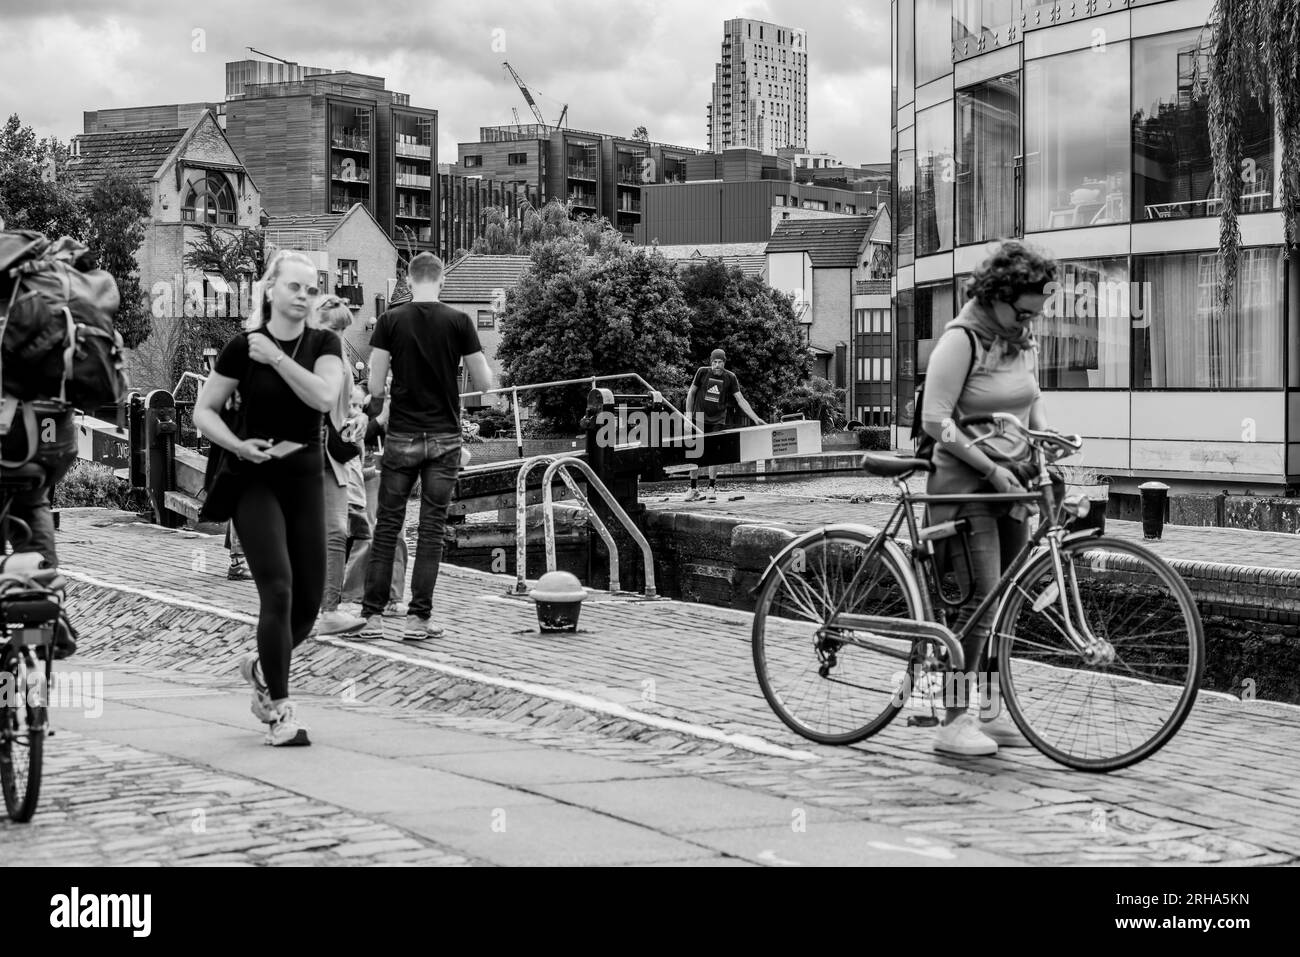
[[(1201, 30), (1134, 43), (1134, 207), (1136, 218), (1218, 216), (1209, 138), (1212, 35)], [(1245, 178), (1240, 212), (1273, 208), (1273, 111), (1242, 117)]]

